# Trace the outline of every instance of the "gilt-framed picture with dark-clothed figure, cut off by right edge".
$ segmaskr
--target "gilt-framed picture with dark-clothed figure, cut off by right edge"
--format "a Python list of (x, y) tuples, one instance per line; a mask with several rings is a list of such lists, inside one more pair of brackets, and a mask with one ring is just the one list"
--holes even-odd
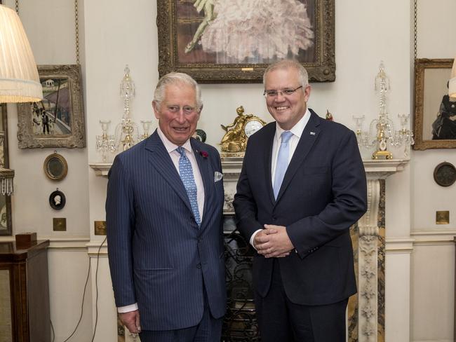
[(448, 97), (453, 60), (415, 60), (415, 150), (456, 148), (456, 99)]

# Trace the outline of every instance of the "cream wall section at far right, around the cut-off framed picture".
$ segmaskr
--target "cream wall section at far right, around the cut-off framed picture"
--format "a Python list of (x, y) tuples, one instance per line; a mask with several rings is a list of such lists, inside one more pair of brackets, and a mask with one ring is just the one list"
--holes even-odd
[[(452, 58), (456, 30), (452, 0), (418, 1), (418, 58)], [(448, 77), (449, 77), (448, 72)], [(411, 268), (411, 340), (453, 341), (455, 310), (456, 184), (434, 182), (434, 168), (443, 161), (456, 165), (453, 149), (413, 151), (410, 162), (411, 218), (415, 239)], [(436, 211), (449, 210), (450, 224), (436, 224)]]

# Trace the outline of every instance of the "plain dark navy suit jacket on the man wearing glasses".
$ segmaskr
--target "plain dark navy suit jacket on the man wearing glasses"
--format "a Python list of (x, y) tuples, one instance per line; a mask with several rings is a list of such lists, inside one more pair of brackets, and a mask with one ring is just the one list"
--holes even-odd
[[(356, 293), (349, 227), (366, 212), (366, 175), (354, 132), (314, 111), (277, 200), (271, 182), (276, 123), (248, 139), (234, 196), (238, 227), (250, 239), (264, 224), (286, 226), (296, 251), (278, 258), (288, 299), (302, 305), (335, 303)], [(253, 282), (266, 296), (273, 259), (255, 254)]]

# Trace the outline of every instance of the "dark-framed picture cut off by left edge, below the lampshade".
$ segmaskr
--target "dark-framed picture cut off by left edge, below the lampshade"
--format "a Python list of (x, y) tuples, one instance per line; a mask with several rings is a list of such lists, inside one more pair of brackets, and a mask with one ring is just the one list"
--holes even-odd
[[(6, 104), (0, 104), (0, 163), (9, 167), (8, 158), (8, 116)], [(0, 235), (11, 235), (11, 196), (0, 193)]]

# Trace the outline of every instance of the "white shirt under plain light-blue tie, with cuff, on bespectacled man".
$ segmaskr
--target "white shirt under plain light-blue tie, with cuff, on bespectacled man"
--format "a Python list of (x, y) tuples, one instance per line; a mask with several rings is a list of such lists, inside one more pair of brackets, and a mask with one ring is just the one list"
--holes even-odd
[[(293, 154), (296, 151), (296, 146), (297, 143), (300, 142), (302, 132), (304, 132), (304, 128), (306, 128), (307, 123), (309, 122), (310, 118), (310, 111), (307, 108), (304, 116), (302, 116), (300, 121), (297, 121), (296, 125), (293, 126), (293, 128), (290, 129), (290, 132), (293, 133), (293, 135), (290, 137), (290, 140), (288, 140), (288, 149), (290, 149), (288, 153), (288, 164), (290, 164), (291, 158), (293, 158)], [(274, 142), (272, 143), (272, 156), (271, 156), (271, 179), (272, 179), (272, 187), (274, 188), (274, 178), (276, 176), (276, 160), (277, 156), (279, 155), (279, 147), (281, 144), (281, 139), (282, 139), (282, 133), (285, 132), (283, 128), (279, 126), (279, 123), (276, 123), (276, 134), (274, 135)], [(250, 237), (250, 245), (255, 248), (253, 245), (253, 239), (255, 238), (255, 235), (259, 231), (262, 231), (262, 229), (258, 229), (255, 231), (255, 233), (252, 234)]]

